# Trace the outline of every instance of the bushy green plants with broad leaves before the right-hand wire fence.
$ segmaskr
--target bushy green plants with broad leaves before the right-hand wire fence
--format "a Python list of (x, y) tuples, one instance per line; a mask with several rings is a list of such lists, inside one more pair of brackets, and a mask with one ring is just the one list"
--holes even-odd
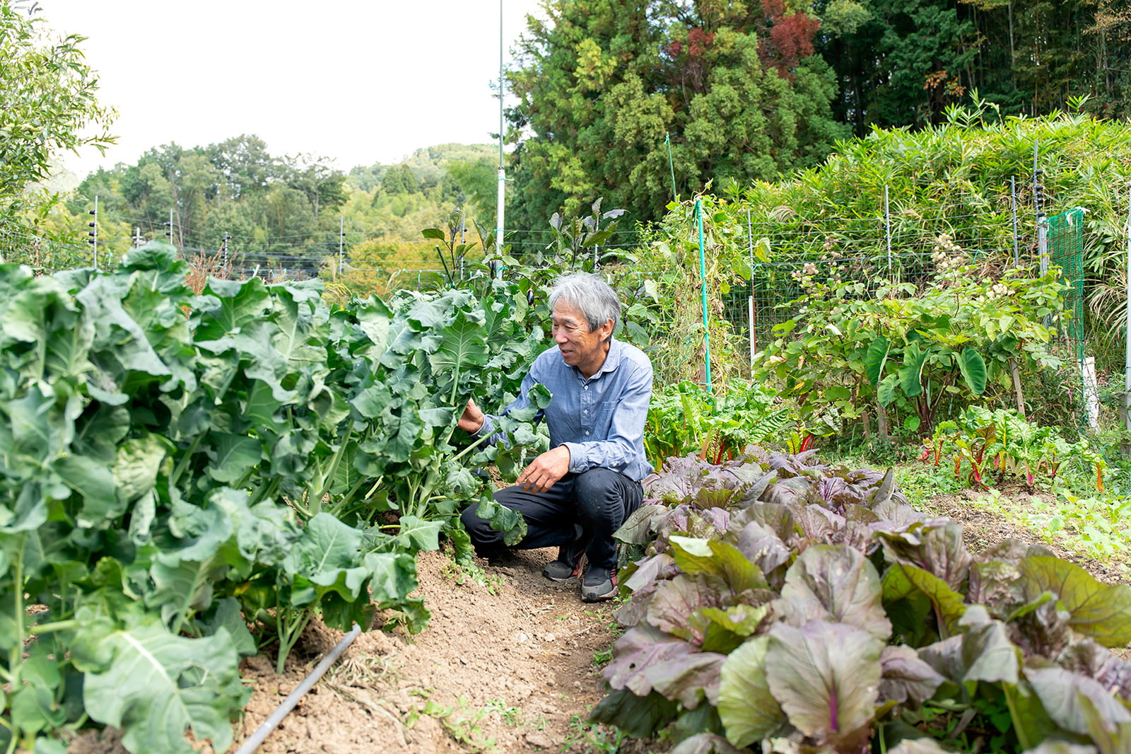
[(857, 281), (805, 285), (797, 315), (776, 327), (756, 374), (780, 379), (783, 394), (831, 431), (862, 421), (870, 434), (874, 412), (881, 437), (900, 417), (906, 432), (930, 435), (940, 411), (991, 386), (1024, 405), (1020, 371), (1059, 365), (1043, 324), (1062, 308), (1055, 272), (982, 276), (943, 255), (924, 290), (889, 281), (874, 291)]

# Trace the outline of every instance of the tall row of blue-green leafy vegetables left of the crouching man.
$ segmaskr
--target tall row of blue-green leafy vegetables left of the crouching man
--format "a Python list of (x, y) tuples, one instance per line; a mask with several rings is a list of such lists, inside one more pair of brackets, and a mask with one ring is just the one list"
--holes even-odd
[(539, 345), (513, 285), (331, 310), (317, 282), (185, 273), (164, 243), (113, 274), (0, 265), (0, 751), (87, 721), (224, 751), (241, 656), (282, 669), (314, 615), (418, 631), (415, 554), (447, 532), (469, 562), (459, 508), (520, 526), (475, 471), (518, 459), (454, 436)]

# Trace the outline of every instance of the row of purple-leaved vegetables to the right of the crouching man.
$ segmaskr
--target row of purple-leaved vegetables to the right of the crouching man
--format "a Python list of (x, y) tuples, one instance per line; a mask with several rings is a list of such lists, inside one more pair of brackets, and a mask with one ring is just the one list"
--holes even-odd
[(628, 631), (590, 720), (671, 726), (673, 754), (1126, 752), (1131, 588), (1017, 541), (972, 555), (892, 479), (671, 460), (616, 534)]

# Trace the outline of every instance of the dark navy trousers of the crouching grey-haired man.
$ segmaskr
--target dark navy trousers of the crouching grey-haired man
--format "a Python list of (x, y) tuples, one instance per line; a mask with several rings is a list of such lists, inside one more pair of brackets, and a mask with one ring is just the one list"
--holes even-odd
[[(545, 492), (527, 492), (504, 487), (494, 494), (502, 506), (517, 511), (526, 520), (526, 537), (519, 549), (569, 547), (584, 549), (593, 566), (616, 571), (616, 542), (613, 532), (644, 500), (640, 482), (611, 469), (590, 469), (566, 474)], [(460, 519), (478, 552), (503, 547), (502, 532), (478, 517), (478, 503), (468, 506)]]

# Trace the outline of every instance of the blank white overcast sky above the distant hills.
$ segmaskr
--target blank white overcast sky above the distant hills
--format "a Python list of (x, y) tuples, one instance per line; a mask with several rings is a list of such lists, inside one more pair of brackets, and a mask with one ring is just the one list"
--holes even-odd
[[(256, 134), (275, 155), (348, 171), (499, 130), (500, 0), (38, 0), (101, 75), (119, 118), (79, 173), (149, 147)], [(506, 59), (537, 0), (501, 0)]]

